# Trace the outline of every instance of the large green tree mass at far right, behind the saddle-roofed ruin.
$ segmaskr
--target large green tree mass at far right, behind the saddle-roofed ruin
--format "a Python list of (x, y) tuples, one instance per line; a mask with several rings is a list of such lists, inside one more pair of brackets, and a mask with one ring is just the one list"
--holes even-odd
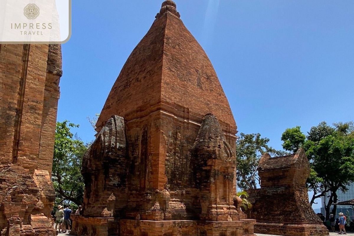
[[(299, 146), (305, 149), (311, 166), (307, 186), (310, 191), (314, 191), (310, 203), (312, 205), (314, 200), (321, 196), (328, 197), (329, 202), (325, 206), (327, 218), (332, 203), (336, 203), (338, 200), (336, 191), (338, 189), (346, 190), (346, 185), (354, 181), (353, 122), (339, 122), (333, 126), (321, 122), (318, 126), (310, 129), (303, 142), (299, 142), (298, 138), (282, 139), (284, 143), (287, 141), (287, 144), (283, 145), (285, 147)], [(291, 129), (287, 129), (284, 133), (289, 133), (289, 130)], [(294, 131), (294, 129), (292, 130)], [(300, 129), (297, 129), (296, 137), (302, 137), (299, 132), (301, 132)], [(285, 137), (289, 137), (287, 135)], [(334, 214), (335, 211), (336, 205), (333, 209)]]

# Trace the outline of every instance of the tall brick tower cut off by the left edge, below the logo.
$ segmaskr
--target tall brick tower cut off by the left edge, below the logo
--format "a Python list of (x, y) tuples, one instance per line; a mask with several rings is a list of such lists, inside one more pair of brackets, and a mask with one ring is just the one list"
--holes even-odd
[(53, 236), (60, 45), (0, 45), (0, 235)]

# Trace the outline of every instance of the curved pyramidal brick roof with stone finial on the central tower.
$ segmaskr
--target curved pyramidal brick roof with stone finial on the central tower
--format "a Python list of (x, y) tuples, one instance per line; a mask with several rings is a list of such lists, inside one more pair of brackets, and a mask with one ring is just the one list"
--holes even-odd
[(201, 122), (217, 116), (223, 129), (236, 133), (228, 100), (205, 51), (179, 18), (175, 2), (162, 3), (148, 33), (134, 48), (104, 104), (99, 131), (112, 115), (129, 121), (164, 110), (188, 112)]

